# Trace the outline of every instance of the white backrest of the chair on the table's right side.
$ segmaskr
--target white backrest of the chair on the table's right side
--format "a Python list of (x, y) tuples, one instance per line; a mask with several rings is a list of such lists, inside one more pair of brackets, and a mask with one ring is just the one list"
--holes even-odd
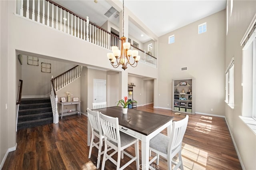
[(171, 140), (168, 145), (168, 151), (181, 147), (186, 128), (188, 126), (188, 115), (180, 121), (172, 123)]

